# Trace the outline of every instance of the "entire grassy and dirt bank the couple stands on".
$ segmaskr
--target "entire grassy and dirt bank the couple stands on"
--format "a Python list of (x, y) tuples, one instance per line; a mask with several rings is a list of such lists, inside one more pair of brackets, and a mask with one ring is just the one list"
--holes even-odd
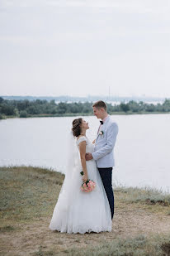
[(1, 255), (170, 255), (170, 195), (116, 187), (111, 233), (60, 234), (49, 224), (64, 175), (0, 167), (0, 176)]

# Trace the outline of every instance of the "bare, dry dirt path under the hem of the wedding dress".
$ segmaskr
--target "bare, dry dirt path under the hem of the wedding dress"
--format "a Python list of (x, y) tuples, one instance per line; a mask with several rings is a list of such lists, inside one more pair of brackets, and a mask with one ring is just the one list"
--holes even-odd
[(50, 217), (37, 219), (30, 224), (17, 224), (14, 230), (0, 234), (1, 255), (26, 256), (43, 251), (63, 255), (66, 249), (86, 248), (116, 238), (133, 238), (138, 234), (169, 234), (170, 215), (159, 215), (138, 205), (125, 205), (116, 209), (112, 231), (100, 234), (64, 234), (49, 229)]

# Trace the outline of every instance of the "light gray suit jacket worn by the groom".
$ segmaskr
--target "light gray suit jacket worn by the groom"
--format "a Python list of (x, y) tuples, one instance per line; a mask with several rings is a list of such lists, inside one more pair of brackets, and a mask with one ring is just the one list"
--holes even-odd
[(101, 135), (100, 133), (97, 133), (92, 157), (96, 160), (98, 168), (114, 167), (114, 147), (118, 133), (118, 126), (111, 120), (111, 117), (108, 116), (105, 123), (102, 124), (100, 131), (102, 131), (103, 134)]

